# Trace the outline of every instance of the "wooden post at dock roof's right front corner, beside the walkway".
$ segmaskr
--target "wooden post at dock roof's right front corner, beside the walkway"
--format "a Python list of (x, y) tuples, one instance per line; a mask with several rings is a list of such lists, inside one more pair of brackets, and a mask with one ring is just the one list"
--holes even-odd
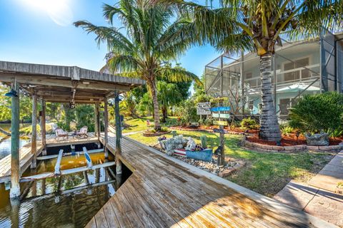
[[(116, 175), (121, 175), (121, 161), (119, 160), (119, 155), (121, 154), (121, 123), (119, 114), (119, 92), (116, 91), (114, 98), (114, 114), (116, 119)], [(119, 180), (119, 179), (117, 179)]]

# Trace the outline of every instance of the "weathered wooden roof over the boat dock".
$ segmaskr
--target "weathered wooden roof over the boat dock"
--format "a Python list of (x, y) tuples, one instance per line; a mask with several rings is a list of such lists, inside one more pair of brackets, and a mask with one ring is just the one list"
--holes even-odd
[(91, 71), (78, 66), (54, 66), (0, 61), (0, 82), (19, 83), (29, 95), (47, 102), (96, 103), (111, 98), (114, 91), (129, 91), (145, 81)]

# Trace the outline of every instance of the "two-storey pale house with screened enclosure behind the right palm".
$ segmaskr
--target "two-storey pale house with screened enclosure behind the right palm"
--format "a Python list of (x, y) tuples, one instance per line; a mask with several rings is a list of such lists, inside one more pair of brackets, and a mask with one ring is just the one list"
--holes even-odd
[[(343, 32), (283, 43), (276, 46), (272, 60), (274, 106), (280, 118), (287, 118), (289, 107), (302, 95), (343, 92)], [(256, 53), (242, 53), (238, 58), (223, 54), (207, 64), (205, 78), (209, 95), (237, 95), (244, 114), (259, 114), (261, 78)]]

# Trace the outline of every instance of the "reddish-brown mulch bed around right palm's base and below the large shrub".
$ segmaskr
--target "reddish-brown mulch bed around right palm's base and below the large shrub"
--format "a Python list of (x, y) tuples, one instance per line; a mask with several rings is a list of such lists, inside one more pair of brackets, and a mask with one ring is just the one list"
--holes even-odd
[[(259, 144), (263, 145), (277, 145), (276, 142), (269, 142), (267, 140), (259, 139), (258, 135), (251, 135), (247, 137), (247, 140), (249, 142), (257, 142)], [(339, 145), (340, 142), (343, 141), (343, 138), (329, 138), (329, 145)], [(303, 135), (300, 135), (297, 139), (297, 136), (295, 134), (289, 134), (289, 135), (282, 135), (281, 145), (283, 146), (292, 146), (292, 145), (306, 145), (306, 138), (304, 138)]]

